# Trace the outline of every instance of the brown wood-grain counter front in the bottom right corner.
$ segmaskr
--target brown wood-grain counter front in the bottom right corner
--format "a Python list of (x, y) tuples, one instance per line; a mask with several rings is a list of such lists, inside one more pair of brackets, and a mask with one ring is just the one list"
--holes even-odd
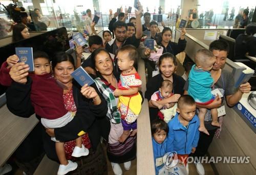
[[(244, 94), (240, 102), (247, 102), (248, 94)], [(246, 104), (244, 104), (247, 106)], [(249, 105), (249, 104), (248, 104)], [(256, 172), (256, 134), (233, 108), (226, 107), (226, 116), (223, 119), (220, 138), (214, 138), (208, 149), (210, 156), (242, 156), (250, 157), (249, 163), (216, 163), (214, 164), (219, 174), (255, 174)], [(251, 106), (247, 106), (250, 108)], [(251, 107), (252, 108), (252, 107)], [(253, 108), (252, 108), (253, 109)], [(254, 110), (254, 109), (253, 109)], [(251, 114), (256, 114), (252, 111)]]

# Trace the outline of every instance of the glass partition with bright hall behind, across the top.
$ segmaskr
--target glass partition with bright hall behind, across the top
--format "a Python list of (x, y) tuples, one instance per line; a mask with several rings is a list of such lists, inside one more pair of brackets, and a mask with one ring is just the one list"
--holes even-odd
[[(161, 14), (163, 14), (165, 26), (171, 27), (172, 29), (175, 29), (176, 26), (177, 13), (178, 16), (185, 13), (188, 20), (190, 14), (193, 14), (194, 7), (197, 8), (197, 20), (194, 22), (195, 24), (193, 26), (191, 26), (188, 20), (187, 28), (238, 28), (240, 21), (242, 20), (243, 10), (248, 10), (248, 19), (251, 21), (256, 5), (254, 1), (250, 0), (245, 0), (243, 2), (240, 0), (216, 0), (210, 6), (209, 2), (204, 0), (194, 1), (191, 6), (189, 4), (190, 2), (186, 0), (140, 0), (140, 2), (143, 6), (143, 11), (152, 14), (151, 19), (153, 19), (153, 14), (159, 13), (159, 7), (161, 6)], [(9, 16), (5, 7), (11, 3), (13, 4), (13, 1), (0, 1), (0, 3), (0, 38), (3, 38), (12, 35), (12, 32), (9, 29), (13, 21), (8, 18)], [(76, 0), (71, 2), (69, 0), (19, 0), (17, 5), (18, 7), (24, 7), (28, 15), (29, 10), (38, 8), (40, 10), (39, 20), (41, 20), (41, 17), (44, 17), (48, 18), (50, 21), (49, 25), (47, 24), (48, 31), (59, 27), (66, 27), (68, 31), (82, 30), (86, 28), (85, 22), (88, 18), (87, 9), (91, 10), (92, 18), (95, 14), (100, 17), (99, 22), (96, 25), (98, 30), (108, 29), (110, 9), (113, 11), (113, 16), (117, 11), (117, 8), (121, 8), (124, 12), (125, 8), (131, 6), (132, 13), (129, 14), (126, 22), (128, 22), (132, 16), (135, 16), (133, 7), (134, 1)], [(141, 20), (143, 23), (143, 17)]]

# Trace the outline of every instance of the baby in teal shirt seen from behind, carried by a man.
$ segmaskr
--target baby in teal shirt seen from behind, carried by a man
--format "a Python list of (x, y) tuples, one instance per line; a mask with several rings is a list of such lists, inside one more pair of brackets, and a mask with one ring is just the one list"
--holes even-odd
[[(207, 49), (200, 49), (196, 53), (195, 62), (188, 75), (188, 94), (191, 95), (197, 104), (207, 105), (214, 101), (215, 97), (211, 94), (211, 86), (214, 85), (214, 79), (212, 79), (210, 70), (214, 65), (216, 58), (211, 51)], [(207, 129), (204, 126), (204, 117), (207, 108), (199, 107), (199, 130), (209, 135)], [(211, 110), (212, 122), (211, 125), (220, 126), (218, 122), (217, 108)]]

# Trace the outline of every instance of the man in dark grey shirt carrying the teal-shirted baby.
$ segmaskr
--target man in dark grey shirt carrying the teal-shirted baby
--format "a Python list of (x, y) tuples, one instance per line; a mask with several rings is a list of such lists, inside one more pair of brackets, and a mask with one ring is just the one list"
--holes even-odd
[[(244, 83), (239, 86), (238, 89), (234, 88), (234, 80), (232, 73), (223, 70), (227, 59), (227, 53), (229, 52), (229, 46), (228, 43), (224, 40), (215, 40), (210, 43), (209, 50), (214, 54), (216, 57), (216, 61), (210, 71), (211, 77), (214, 79), (214, 86), (212, 86), (212, 90), (218, 89), (220, 94), (223, 96), (222, 99), (220, 98), (220, 95), (218, 95), (215, 100), (208, 104), (208, 105), (198, 105), (197, 107), (206, 107), (206, 108), (221, 108), (221, 111), (225, 112), (225, 101), (228, 106), (234, 106), (236, 105), (239, 100), (242, 98), (242, 95), (244, 93), (249, 93), (251, 90), (250, 83)], [(187, 94), (188, 90), (188, 80), (186, 81), (184, 85), (184, 94)], [(219, 114), (221, 116), (218, 117), (218, 120), (220, 123), (222, 123), (223, 120), (226, 120), (223, 118), (225, 113), (222, 112), (222, 114)], [(205, 156), (210, 143), (212, 139), (214, 139), (214, 136), (216, 135), (217, 138), (220, 135), (221, 132), (221, 126), (220, 128), (216, 126), (211, 125), (211, 114), (210, 111), (207, 110), (207, 113), (205, 115), (204, 119), (204, 125), (206, 129), (208, 130), (209, 135), (206, 135), (205, 133), (200, 132), (200, 137), (198, 141), (198, 146), (195, 151), (195, 153), (191, 156), (193, 157), (203, 157)], [(199, 159), (195, 159), (199, 160)], [(204, 173), (204, 167), (200, 162), (195, 161), (195, 165), (197, 167), (197, 172), (199, 174), (205, 174)]]

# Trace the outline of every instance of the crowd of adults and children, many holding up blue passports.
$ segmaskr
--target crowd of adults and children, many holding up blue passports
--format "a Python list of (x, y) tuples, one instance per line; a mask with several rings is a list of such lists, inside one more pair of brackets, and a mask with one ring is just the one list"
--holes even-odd
[[(36, 141), (41, 141), (46, 155), (60, 164), (58, 174), (105, 174), (103, 139), (114, 173), (122, 174), (120, 164), (129, 170), (136, 158), (136, 120), (144, 98), (150, 108), (156, 174), (164, 166), (159, 159), (167, 152), (176, 151), (187, 170), (184, 160), (188, 156), (205, 156), (214, 136), (219, 136), (224, 119), (218, 116), (217, 108), (225, 102), (235, 105), (250, 92), (250, 84), (235, 89), (232, 74), (222, 69), (229, 52), (223, 40), (212, 41), (209, 50), (199, 50), (195, 64), (187, 62), (184, 75), (177, 75), (176, 55), (186, 48), (185, 28), (178, 42), (173, 42), (172, 30), (162, 23), (160, 32), (150, 13), (143, 14), (142, 25), (140, 3), (138, 8), (128, 24), (127, 9), (114, 15), (111, 11), (110, 31), (103, 32), (103, 39), (89, 37), (91, 55), (83, 62), (83, 48), (76, 46), (76, 58), (58, 52), (50, 59), (47, 53), (35, 51), (34, 72), (29, 72), (28, 64), (18, 62), (16, 55), (2, 64), (0, 83), (8, 86), (10, 112), (26, 118), (35, 113), (41, 121), (33, 142), (25, 140), (20, 145), (20, 158), (33, 159), (42, 149)], [(38, 9), (35, 13), (38, 15)], [(90, 26), (94, 30), (95, 24)], [(17, 34), (13, 40), (29, 37), (28, 25), (14, 28)], [(147, 39), (153, 39), (156, 48), (149, 49)], [(139, 91), (138, 59), (144, 60), (148, 75), (145, 94)], [(94, 78), (91, 86), (80, 86), (73, 80), (71, 73), (80, 65)], [(153, 75), (155, 71), (157, 75)], [(215, 89), (222, 98), (211, 94)], [(204, 174), (203, 165), (195, 164), (198, 173)]]

